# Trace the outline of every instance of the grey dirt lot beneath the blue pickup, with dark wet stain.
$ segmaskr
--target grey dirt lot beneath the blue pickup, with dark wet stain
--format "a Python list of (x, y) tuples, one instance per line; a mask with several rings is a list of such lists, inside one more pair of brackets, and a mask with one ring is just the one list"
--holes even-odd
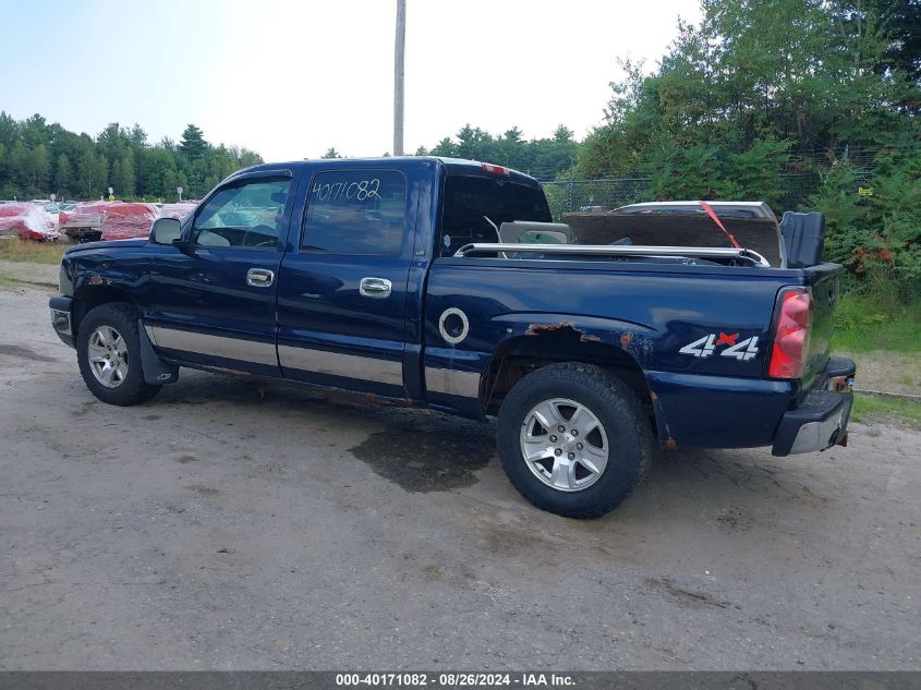
[(493, 428), (183, 371), (105, 405), (0, 286), (2, 669), (919, 669), (921, 434), (541, 512)]

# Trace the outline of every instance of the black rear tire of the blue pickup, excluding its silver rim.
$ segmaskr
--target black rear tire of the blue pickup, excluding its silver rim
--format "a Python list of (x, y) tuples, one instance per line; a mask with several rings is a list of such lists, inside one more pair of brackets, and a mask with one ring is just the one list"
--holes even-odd
[[(607, 437), (607, 465), (593, 484), (575, 491), (542, 481), (521, 449), (521, 429), (531, 411), (542, 401), (560, 398), (585, 405)], [(591, 364), (550, 364), (522, 378), (506, 396), (496, 435), (502, 468), (514, 487), (542, 510), (567, 518), (598, 518), (617, 508), (642, 481), (653, 455), (652, 429), (637, 396), (622, 380)]]

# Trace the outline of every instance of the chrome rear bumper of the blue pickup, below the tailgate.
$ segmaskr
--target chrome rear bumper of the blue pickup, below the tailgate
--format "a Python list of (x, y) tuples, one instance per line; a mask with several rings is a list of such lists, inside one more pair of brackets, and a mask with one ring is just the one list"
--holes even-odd
[(771, 453), (793, 456), (847, 445), (853, 395), (850, 386), (843, 386), (841, 382), (853, 377), (855, 371), (850, 360), (832, 360), (819, 387), (809, 390), (795, 409), (784, 414)]

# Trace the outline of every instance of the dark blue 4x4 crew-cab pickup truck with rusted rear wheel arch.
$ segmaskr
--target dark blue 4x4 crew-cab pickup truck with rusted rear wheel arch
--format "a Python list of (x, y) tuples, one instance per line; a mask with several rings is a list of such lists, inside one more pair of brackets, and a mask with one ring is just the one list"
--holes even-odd
[(775, 267), (742, 247), (584, 245), (535, 180), (499, 166), (263, 165), (148, 239), (70, 247), (51, 320), (111, 404), (184, 366), (497, 417), (521, 494), (591, 518), (630, 495), (656, 444), (846, 441), (840, 266), (786, 255), (808, 234), (780, 233)]

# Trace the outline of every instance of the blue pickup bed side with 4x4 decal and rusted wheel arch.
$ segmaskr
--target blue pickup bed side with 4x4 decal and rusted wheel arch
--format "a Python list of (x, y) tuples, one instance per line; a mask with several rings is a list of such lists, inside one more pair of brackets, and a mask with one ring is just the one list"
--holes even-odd
[[(425, 305), (426, 376), (449, 370), (461, 373), (459, 380), (468, 374), (468, 380), (488, 382), (496, 342), (499, 350), (524, 347), (533, 356), (542, 348), (587, 343), (599, 362), (626, 355), (627, 365), (643, 373), (664, 440), (766, 445), (791, 400), (809, 389), (827, 361), (828, 295), (836, 292), (839, 268), (567, 261), (549, 254), (439, 258), (429, 273)], [(802, 380), (766, 377), (775, 303), (786, 286), (810, 286), (822, 296)], [(470, 336), (445, 347), (439, 317), (458, 305), (470, 322)], [(553, 338), (542, 340), (547, 335)], [(689, 346), (710, 335), (723, 342), (710, 355), (695, 356)], [(750, 346), (732, 350), (746, 341)], [(469, 386), (456, 390), (468, 397), (429, 395), (470, 416), (488, 413), (488, 403), (469, 397)]]

